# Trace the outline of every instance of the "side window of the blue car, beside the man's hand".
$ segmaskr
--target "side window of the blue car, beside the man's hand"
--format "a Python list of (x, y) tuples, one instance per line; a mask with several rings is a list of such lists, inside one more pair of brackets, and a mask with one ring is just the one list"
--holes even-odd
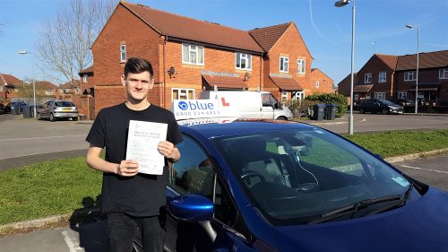
[(188, 136), (177, 144), (182, 158), (173, 164), (168, 183), (180, 194), (201, 194), (211, 197), (214, 170), (202, 148)]

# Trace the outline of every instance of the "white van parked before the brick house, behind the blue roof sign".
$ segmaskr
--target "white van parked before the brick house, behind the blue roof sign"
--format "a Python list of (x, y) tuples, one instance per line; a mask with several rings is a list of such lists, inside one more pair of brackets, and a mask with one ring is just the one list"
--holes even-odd
[(291, 119), (292, 112), (282, 107), (269, 91), (202, 91), (199, 99), (218, 100), (220, 106), (232, 107), (243, 118)]

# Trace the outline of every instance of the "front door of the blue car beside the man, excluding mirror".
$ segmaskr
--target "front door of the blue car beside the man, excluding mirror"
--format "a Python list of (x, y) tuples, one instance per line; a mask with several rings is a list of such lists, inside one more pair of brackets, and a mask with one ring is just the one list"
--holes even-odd
[(182, 222), (169, 213), (165, 248), (170, 251), (229, 251), (233, 247), (237, 208), (232, 204), (217, 168), (199, 143), (184, 135), (177, 148), (182, 158), (173, 164), (168, 176), (168, 200), (173, 196), (200, 194), (215, 205), (210, 222)]

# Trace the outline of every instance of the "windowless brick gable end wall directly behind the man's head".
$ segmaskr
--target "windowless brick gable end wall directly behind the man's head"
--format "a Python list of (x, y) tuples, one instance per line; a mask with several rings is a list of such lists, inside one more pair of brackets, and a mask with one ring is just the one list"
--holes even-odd
[[(125, 66), (125, 63), (120, 62), (122, 44), (126, 45), (126, 58), (138, 56), (148, 59), (154, 69), (155, 82), (160, 82), (159, 34), (119, 4), (92, 46), (95, 64), (94, 75), (89, 82), (95, 85), (95, 113), (126, 99), (120, 81)], [(160, 100), (157, 86), (149, 98), (155, 104), (159, 104)]]

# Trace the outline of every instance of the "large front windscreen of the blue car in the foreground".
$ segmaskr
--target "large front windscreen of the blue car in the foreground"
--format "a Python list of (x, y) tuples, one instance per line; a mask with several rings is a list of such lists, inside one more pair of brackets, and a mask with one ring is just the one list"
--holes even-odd
[(341, 207), (401, 196), (409, 181), (320, 128), (213, 140), (251, 204), (274, 225), (303, 224)]

